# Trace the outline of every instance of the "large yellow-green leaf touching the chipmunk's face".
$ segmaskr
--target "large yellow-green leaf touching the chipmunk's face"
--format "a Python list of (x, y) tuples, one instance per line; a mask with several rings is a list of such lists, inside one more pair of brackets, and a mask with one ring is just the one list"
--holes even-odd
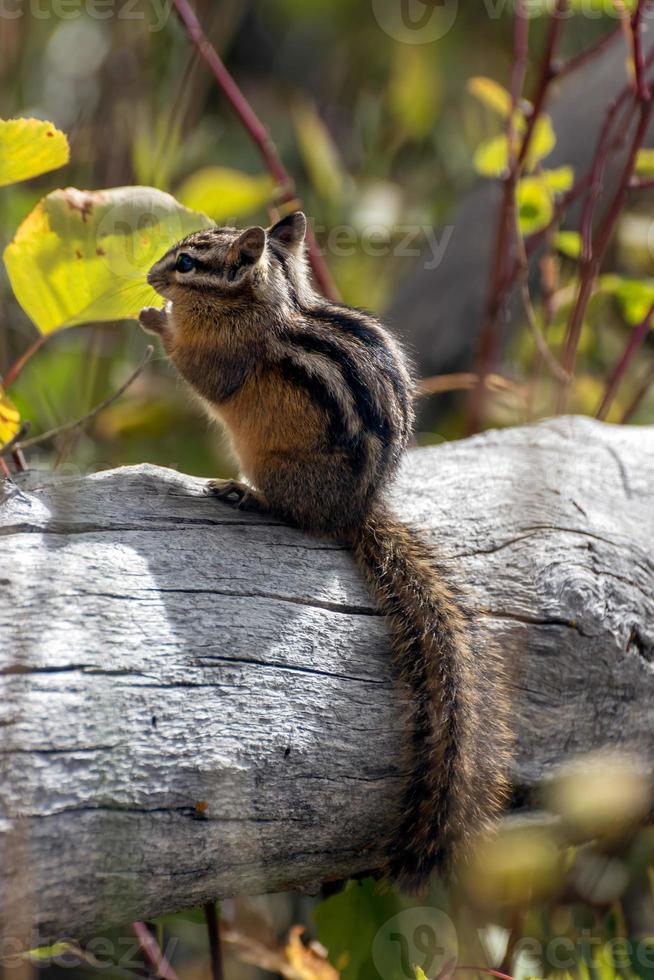
[(212, 222), (152, 187), (54, 191), (4, 251), (16, 299), (42, 333), (138, 316), (161, 299), (145, 276), (174, 242)]

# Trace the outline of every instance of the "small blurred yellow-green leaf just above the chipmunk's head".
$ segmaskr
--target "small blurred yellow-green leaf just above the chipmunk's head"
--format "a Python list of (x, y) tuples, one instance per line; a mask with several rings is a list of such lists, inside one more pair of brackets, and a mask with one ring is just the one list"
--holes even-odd
[(274, 189), (275, 182), (268, 174), (253, 177), (229, 167), (205, 167), (177, 188), (177, 198), (187, 208), (203, 211), (220, 223), (265, 208)]

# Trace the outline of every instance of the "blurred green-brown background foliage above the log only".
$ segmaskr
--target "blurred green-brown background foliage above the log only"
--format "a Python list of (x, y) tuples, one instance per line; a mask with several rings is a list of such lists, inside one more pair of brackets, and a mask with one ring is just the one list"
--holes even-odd
[[(0, 117), (34, 115), (55, 123), (69, 136), (71, 160), (55, 174), (0, 189), (3, 246), (57, 186), (154, 185), (222, 223), (267, 222), (271, 186), (257, 150), (170, 3), (139, 0), (125, 9), (117, 3), (115, 10), (96, 10), (91, 0), (66, 0), (61, 10), (45, 0), (4, 5)], [(503, 123), (466, 83), (484, 75), (506, 86), (512, 63), (510, 4), (459, 4), (455, 16), (450, 8), (438, 14), (442, 36), (434, 40), (424, 31), (398, 31), (381, 0), (221, 0), (197, 8), (296, 180), (344, 302), (385, 314), (423, 377), (470, 371), (474, 363), (496, 182), (480, 181), (473, 157)], [(534, 52), (542, 47), (545, 20), (531, 25)], [(614, 26), (615, 18), (599, 10), (575, 16), (566, 25), (562, 53), (582, 50)], [(625, 77), (624, 58), (624, 51), (613, 50), (557, 93), (555, 165), (588, 163), (601, 114), (616, 80)], [(532, 68), (527, 89), (533, 75)], [(235, 171), (243, 186), (225, 188), (210, 169), (216, 167)], [(618, 242), (611, 260), (612, 267), (639, 276), (651, 274), (653, 261), (645, 199), (641, 193), (639, 221), (628, 223), (626, 244)], [(562, 287), (566, 268), (564, 260)], [(562, 336), (569, 300), (563, 297), (560, 317), (550, 325), (554, 342)], [(584, 335), (571, 403), (589, 414), (626, 337), (619, 306), (612, 299), (595, 306), (598, 327)], [(514, 319), (498, 371), (515, 385), (491, 395), (485, 425), (551, 413), (545, 401), (536, 397), (529, 404), (525, 394), (533, 342), (524, 315), (518, 311)], [(0, 269), (0, 370), (6, 372), (37, 336)], [(50, 338), (11, 391), (32, 434), (84, 414), (110, 394), (145, 346), (133, 321)], [(646, 347), (636, 365), (641, 375), (648, 357)], [(43, 458), (44, 465), (94, 469), (149, 461), (199, 475), (228, 472), (232, 464), (219, 434), (159, 351), (155, 358), (86, 430), (34, 451), (31, 464)], [(464, 434), (465, 398), (459, 392), (423, 401), (419, 441)], [(616, 419), (628, 399), (625, 387)], [(653, 416), (654, 402), (645, 398), (633, 421)]]

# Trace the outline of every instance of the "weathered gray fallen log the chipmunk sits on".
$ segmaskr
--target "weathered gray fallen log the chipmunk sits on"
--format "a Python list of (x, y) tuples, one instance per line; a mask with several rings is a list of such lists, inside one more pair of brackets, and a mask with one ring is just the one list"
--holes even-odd
[[(18, 487), (0, 506), (3, 935), (374, 864), (398, 695), (347, 551), (151, 466)], [(654, 429), (559, 419), (418, 450), (395, 499), (515, 665), (516, 783), (607, 744), (651, 758)]]

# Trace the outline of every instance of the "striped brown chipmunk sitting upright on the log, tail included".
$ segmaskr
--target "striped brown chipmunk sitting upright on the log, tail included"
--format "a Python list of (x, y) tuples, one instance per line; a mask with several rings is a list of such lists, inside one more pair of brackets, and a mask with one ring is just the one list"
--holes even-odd
[(297, 211), (267, 230), (189, 235), (148, 275), (165, 308), (139, 319), (231, 438), (247, 483), (208, 491), (347, 542), (388, 617), (410, 693), (409, 773), (385, 865), (371, 870), (419, 890), (500, 806), (502, 672), (474, 649), (473, 618), (431, 549), (385, 501), (412, 431), (406, 360), (375, 317), (314, 291), (305, 232)]

